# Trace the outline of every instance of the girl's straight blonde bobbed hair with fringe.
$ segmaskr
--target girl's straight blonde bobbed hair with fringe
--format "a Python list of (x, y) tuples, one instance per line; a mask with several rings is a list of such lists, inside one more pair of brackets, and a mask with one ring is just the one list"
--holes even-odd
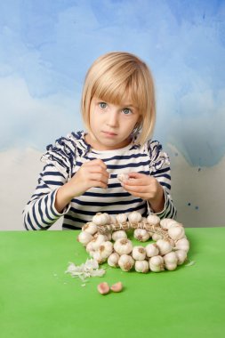
[(136, 142), (142, 145), (147, 141), (156, 122), (153, 78), (148, 66), (129, 52), (108, 52), (95, 60), (89, 68), (81, 101), (87, 130), (92, 133), (90, 107), (94, 96), (119, 105), (127, 95), (141, 114), (141, 121), (133, 130), (133, 134), (138, 135)]

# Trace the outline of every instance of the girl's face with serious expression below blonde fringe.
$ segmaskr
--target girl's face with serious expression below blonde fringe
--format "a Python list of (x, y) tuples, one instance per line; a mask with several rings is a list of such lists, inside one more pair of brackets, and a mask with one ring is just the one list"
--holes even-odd
[(113, 150), (127, 146), (131, 133), (140, 119), (140, 113), (130, 102), (123, 101), (119, 106), (93, 97), (90, 109), (92, 134), (86, 141), (96, 150)]

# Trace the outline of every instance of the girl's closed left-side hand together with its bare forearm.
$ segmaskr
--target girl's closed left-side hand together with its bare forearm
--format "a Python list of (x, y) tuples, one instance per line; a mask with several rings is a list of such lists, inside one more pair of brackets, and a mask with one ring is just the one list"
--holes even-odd
[(73, 197), (83, 195), (90, 188), (107, 189), (108, 177), (107, 166), (100, 159), (84, 163), (72, 179), (58, 189), (55, 198), (56, 210), (61, 213)]

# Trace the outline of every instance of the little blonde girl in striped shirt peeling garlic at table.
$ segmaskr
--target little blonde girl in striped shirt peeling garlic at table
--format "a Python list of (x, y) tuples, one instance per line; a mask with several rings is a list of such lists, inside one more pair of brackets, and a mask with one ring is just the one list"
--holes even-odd
[(41, 158), (43, 172), (23, 211), (25, 228), (49, 229), (63, 216), (62, 229), (80, 229), (98, 212), (173, 218), (169, 158), (149, 140), (156, 110), (147, 65), (128, 52), (95, 60), (81, 110), (87, 132), (61, 137)]

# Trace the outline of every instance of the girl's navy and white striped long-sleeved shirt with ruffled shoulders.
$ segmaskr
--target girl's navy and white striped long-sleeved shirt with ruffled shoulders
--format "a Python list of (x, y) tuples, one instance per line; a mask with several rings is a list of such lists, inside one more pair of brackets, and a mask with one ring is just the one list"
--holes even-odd
[[(123, 149), (94, 150), (84, 141), (84, 132), (70, 133), (46, 148), (41, 160), (44, 162), (36, 190), (23, 210), (24, 226), (28, 230), (49, 229), (63, 216), (62, 229), (80, 229), (92, 220), (95, 213), (131, 213), (138, 211), (143, 217), (151, 213), (147, 201), (133, 197), (121, 186), (118, 173), (145, 173), (159, 181), (165, 191), (165, 207), (162, 218), (176, 214), (170, 196), (170, 162), (158, 141), (147, 141), (143, 146), (134, 140)], [(109, 173), (108, 189), (88, 189), (84, 195), (74, 197), (62, 213), (55, 208), (57, 190), (69, 181), (87, 161), (100, 158)]]

